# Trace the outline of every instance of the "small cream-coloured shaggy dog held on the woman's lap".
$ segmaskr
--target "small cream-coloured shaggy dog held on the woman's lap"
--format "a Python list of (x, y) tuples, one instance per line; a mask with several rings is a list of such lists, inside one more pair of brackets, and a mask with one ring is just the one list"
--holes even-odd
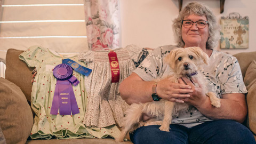
[[(200, 47), (187, 47), (186, 49), (174, 49), (168, 54), (165, 62), (173, 69), (173, 74), (168, 76), (170, 81), (178, 83), (181, 77), (188, 79), (195, 78), (198, 83), (194, 83), (196, 87), (199, 84), (202, 90), (206, 92), (206, 79), (200, 72), (204, 63), (208, 65), (209, 57), (204, 53)], [(158, 80), (156, 80), (158, 81)], [(211, 104), (215, 107), (220, 107), (220, 99), (218, 99), (213, 92), (207, 92), (206, 95), (210, 98)], [(124, 121), (122, 123), (121, 135), (116, 139), (116, 142), (122, 142), (127, 132), (132, 132), (140, 126), (147, 125), (161, 125), (161, 131), (168, 131), (172, 117), (178, 116), (179, 111), (186, 111), (188, 109), (186, 103), (171, 102), (165, 99), (147, 103), (133, 103), (126, 111)], [(146, 114), (150, 117), (146, 122), (142, 121), (142, 115)]]

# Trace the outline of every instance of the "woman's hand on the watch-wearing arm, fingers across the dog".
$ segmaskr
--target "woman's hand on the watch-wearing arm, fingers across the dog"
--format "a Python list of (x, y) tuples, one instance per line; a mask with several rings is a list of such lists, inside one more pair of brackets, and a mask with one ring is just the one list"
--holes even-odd
[[(182, 81), (182, 80), (181, 80)], [(190, 85), (185, 83), (173, 83), (169, 78), (162, 79), (157, 83), (157, 95), (165, 100), (183, 103), (193, 93)]]

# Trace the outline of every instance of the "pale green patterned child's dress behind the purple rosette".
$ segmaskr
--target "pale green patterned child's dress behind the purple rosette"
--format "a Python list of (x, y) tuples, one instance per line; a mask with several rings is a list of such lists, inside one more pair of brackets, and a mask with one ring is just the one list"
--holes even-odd
[[(31, 107), (35, 112), (34, 125), (30, 133), (31, 139), (75, 139), (75, 138), (105, 138), (116, 137), (120, 131), (116, 125), (105, 128), (87, 128), (83, 124), (86, 109), (87, 93), (84, 88), (84, 76), (73, 71), (73, 75), (80, 82), (73, 86), (79, 114), (51, 115), (52, 100), (57, 79), (52, 74), (52, 69), (62, 63), (61, 56), (40, 46), (31, 46), (21, 53), (19, 58), (29, 67), (36, 67), (37, 75), (34, 79), (31, 92)], [(64, 57), (67, 58), (67, 57)], [(69, 59), (79, 62), (77, 55)]]

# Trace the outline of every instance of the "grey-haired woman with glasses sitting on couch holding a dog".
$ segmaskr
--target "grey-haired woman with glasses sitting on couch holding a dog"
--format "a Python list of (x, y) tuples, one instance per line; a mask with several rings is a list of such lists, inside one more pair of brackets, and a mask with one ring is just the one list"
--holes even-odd
[[(170, 132), (160, 131), (159, 125), (142, 126), (130, 134), (134, 143), (255, 143), (253, 135), (242, 125), (247, 114), (247, 93), (239, 64), (235, 57), (213, 50), (219, 39), (219, 27), (213, 12), (205, 5), (189, 3), (174, 20), (173, 29), (178, 46), (158, 47), (148, 55), (120, 85), (122, 98), (129, 104), (153, 101), (153, 86), (162, 99), (186, 102), (187, 113), (173, 118)], [(209, 91), (221, 98), (221, 107), (211, 105), (201, 87), (188, 79), (179, 83), (167, 79), (153, 82), (168, 74), (170, 68), (163, 58), (177, 47), (199, 46), (210, 57), (202, 71), (209, 82)], [(185, 84), (186, 83), (186, 84)], [(144, 116), (147, 120), (150, 117)]]

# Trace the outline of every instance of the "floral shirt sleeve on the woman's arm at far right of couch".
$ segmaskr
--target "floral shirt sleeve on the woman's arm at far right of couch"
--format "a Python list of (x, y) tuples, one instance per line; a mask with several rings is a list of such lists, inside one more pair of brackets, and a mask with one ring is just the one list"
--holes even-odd
[(221, 80), (221, 94), (247, 93), (241, 68), (235, 57), (231, 56), (223, 61), (223, 70), (218, 74), (218, 78)]

